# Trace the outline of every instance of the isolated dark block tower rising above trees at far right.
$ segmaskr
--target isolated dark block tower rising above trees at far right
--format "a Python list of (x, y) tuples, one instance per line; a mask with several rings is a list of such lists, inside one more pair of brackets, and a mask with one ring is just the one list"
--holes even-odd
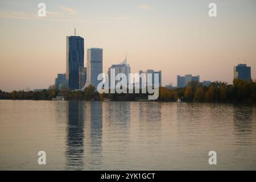
[(234, 66), (234, 78), (250, 81), (251, 67), (247, 67), (246, 64), (238, 64), (237, 66)]

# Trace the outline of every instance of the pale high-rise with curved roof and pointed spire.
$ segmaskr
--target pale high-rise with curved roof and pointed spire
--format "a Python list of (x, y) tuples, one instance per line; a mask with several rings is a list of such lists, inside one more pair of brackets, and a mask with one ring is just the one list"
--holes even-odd
[[(114, 75), (111, 74), (111, 69), (114, 69)], [(111, 67), (108, 70), (108, 77), (109, 77), (109, 87), (110, 87), (110, 80), (115, 80), (115, 76), (117, 76), (118, 73), (123, 73), (127, 77), (127, 84), (129, 84), (129, 74), (131, 72), (130, 65), (127, 64), (127, 55), (125, 57), (125, 60), (122, 61), (120, 64), (112, 64)], [(117, 84), (117, 80), (115, 80), (115, 85)]]

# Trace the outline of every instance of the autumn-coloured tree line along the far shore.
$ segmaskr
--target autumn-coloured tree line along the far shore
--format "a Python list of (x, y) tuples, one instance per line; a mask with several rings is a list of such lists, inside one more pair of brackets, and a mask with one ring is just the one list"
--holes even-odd
[[(56, 96), (63, 96), (64, 100), (111, 100), (111, 101), (146, 101), (147, 93), (98, 93), (94, 86), (89, 85), (84, 91), (72, 91), (67, 88), (56, 89), (54, 85), (42, 91), (3, 92), (2, 100), (52, 100)], [(212, 82), (203, 86), (198, 82), (189, 82), (185, 88), (159, 88), (159, 97), (155, 101), (184, 102), (256, 102), (256, 82), (234, 79), (233, 84), (226, 82)]]

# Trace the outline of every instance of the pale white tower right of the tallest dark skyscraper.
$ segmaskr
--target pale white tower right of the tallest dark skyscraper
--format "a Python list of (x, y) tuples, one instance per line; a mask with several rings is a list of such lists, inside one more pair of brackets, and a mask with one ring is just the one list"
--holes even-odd
[(87, 49), (86, 84), (84, 87), (93, 85), (96, 89), (102, 80), (97, 77), (102, 73), (102, 48)]

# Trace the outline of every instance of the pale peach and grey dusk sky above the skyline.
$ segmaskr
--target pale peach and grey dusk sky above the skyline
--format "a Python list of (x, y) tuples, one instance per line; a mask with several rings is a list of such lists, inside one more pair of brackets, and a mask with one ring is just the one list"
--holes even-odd
[[(38, 16), (41, 2), (46, 17)], [(217, 17), (208, 15), (211, 2)], [(105, 73), (127, 52), (131, 73), (162, 70), (162, 85), (186, 74), (232, 83), (234, 65), (245, 59), (255, 79), (255, 9), (255, 0), (0, 0), (0, 89), (54, 84), (65, 73), (66, 36), (74, 28), (85, 49), (103, 48)]]

